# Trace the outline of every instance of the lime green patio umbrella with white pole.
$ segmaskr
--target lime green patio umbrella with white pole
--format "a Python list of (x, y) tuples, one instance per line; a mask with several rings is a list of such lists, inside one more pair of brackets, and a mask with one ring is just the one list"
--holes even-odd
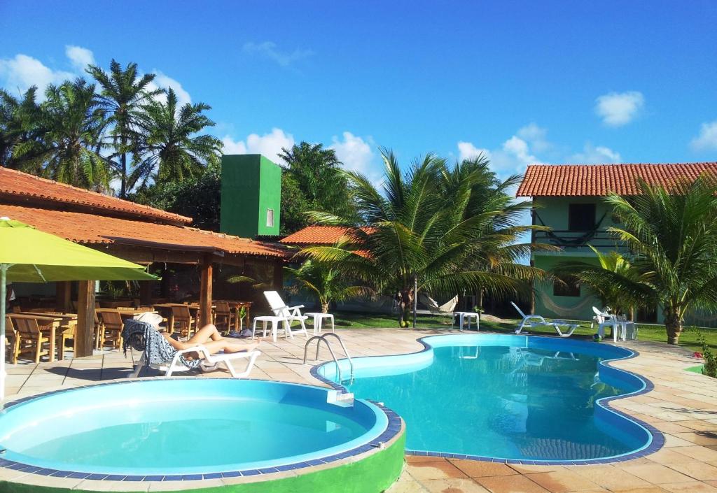
[(6, 282), (151, 280), (144, 267), (0, 217), (0, 399), (5, 396)]

